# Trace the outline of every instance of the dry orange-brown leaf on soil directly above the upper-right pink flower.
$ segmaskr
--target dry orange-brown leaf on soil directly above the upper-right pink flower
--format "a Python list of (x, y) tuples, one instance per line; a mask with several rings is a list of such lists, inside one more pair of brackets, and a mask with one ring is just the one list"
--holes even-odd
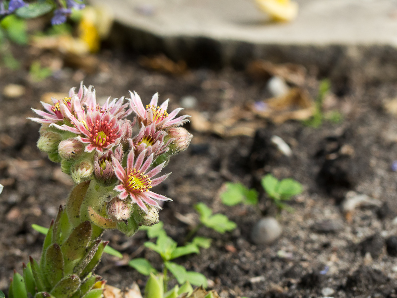
[(164, 54), (154, 57), (140, 57), (138, 63), (153, 71), (166, 73), (166, 74), (184, 74), (187, 70), (187, 65), (184, 61), (174, 62)]

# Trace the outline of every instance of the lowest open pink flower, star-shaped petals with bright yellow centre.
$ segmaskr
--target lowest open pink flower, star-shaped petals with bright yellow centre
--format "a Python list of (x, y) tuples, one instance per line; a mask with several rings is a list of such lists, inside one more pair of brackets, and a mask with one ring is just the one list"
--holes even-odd
[(149, 190), (153, 186), (163, 182), (169, 174), (152, 179), (161, 171), (164, 163), (156, 166), (146, 173), (153, 161), (153, 154), (150, 154), (145, 162), (143, 162), (146, 152), (142, 151), (134, 163), (133, 151), (134, 150), (131, 150), (128, 154), (126, 169), (121, 166), (119, 160), (114, 157), (112, 158), (113, 168), (115, 170), (116, 176), (121, 181), (121, 184), (117, 185), (115, 190), (121, 192), (119, 195), (121, 200), (125, 200), (128, 196), (130, 196), (133, 203), (136, 203), (144, 212), (147, 212), (147, 207), (144, 203), (159, 207), (158, 203), (153, 199), (160, 201), (171, 200)]

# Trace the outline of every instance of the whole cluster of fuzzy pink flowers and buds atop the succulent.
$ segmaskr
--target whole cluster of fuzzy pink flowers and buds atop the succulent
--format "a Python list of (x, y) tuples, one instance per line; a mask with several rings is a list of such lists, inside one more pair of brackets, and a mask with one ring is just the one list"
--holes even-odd
[(67, 97), (52, 101), (42, 102), (45, 111), (33, 109), (41, 118), (29, 118), (42, 124), (38, 147), (61, 162), (75, 183), (93, 180), (106, 192), (88, 207), (95, 224), (127, 221), (135, 211), (144, 215), (158, 210), (158, 201), (170, 200), (151, 188), (168, 177), (160, 171), (192, 139), (180, 127), (189, 121), (187, 115), (177, 117), (180, 108), (168, 113), (168, 100), (158, 106), (157, 93), (144, 106), (135, 92), (101, 106), (95, 89), (82, 83), (77, 92), (71, 88)]

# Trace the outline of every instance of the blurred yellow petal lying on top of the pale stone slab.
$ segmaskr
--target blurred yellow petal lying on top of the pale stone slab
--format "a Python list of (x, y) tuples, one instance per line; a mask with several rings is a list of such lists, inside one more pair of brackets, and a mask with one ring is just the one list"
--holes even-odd
[(290, 0), (255, 0), (273, 21), (289, 22), (298, 15), (298, 3)]

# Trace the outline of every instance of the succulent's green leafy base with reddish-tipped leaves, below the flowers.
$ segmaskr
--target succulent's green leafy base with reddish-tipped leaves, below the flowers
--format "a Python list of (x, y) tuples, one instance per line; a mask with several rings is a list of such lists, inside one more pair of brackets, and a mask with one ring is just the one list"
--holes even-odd
[(22, 275), (14, 272), (9, 298), (102, 297), (105, 282), (92, 271), (107, 245), (100, 238), (103, 229), (78, 220), (88, 186), (89, 181), (78, 184), (66, 209), (60, 207), (48, 229), (40, 262), (30, 258)]

